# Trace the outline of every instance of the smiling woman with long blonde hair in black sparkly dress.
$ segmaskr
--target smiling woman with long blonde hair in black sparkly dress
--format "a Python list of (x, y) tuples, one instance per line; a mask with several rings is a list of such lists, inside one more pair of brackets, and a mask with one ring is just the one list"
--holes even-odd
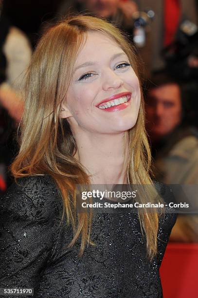
[(76, 185), (152, 185), (149, 165), (132, 47), (95, 17), (49, 29), (28, 72), (17, 184), (1, 200), (0, 286), (36, 297), (162, 297), (174, 214), (76, 212)]

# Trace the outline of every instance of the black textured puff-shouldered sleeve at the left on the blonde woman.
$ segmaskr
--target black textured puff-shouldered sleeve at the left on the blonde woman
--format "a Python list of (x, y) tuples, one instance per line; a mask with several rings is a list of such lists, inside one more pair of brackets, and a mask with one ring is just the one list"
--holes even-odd
[(58, 234), (61, 198), (42, 176), (20, 180), (0, 200), (0, 287), (36, 293)]

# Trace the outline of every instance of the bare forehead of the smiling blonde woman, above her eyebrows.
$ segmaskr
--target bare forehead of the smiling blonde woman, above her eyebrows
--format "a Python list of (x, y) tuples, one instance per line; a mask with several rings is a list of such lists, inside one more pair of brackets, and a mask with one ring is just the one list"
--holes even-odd
[(80, 50), (76, 63), (83, 63), (86, 60), (100, 60), (104, 57), (113, 56), (125, 52), (115, 40), (100, 32), (88, 32), (85, 43)]

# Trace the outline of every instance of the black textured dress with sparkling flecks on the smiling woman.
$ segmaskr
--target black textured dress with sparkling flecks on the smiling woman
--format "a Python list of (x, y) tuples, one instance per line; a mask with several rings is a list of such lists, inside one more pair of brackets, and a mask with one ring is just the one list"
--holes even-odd
[(137, 214), (97, 213), (97, 245), (78, 259), (80, 240), (66, 248), (72, 229), (60, 224), (62, 199), (52, 179), (18, 181), (0, 200), (1, 288), (32, 287), (42, 298), (162, 298), (159, 267), (176, 214), (160, 218), (159, 253), (150, 262)]

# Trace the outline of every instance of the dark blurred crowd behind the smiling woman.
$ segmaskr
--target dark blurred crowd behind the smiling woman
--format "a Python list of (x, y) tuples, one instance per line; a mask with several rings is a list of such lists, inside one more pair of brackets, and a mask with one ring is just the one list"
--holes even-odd
[[(198, 0), (0, 0), (0, 192), (12, 183), (25, 71), (39, 37), (71, 13), (119, 27), (140, 60), (153, 179), (198, 185)], [(198, 215), (171, 241), (198, 242)]]

